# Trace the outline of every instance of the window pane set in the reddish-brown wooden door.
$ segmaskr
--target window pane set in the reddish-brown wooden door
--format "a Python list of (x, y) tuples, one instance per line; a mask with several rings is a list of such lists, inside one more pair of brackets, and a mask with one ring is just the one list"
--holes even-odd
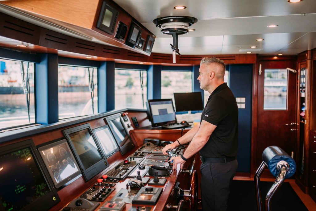
[(287, 109), (288, 70), (264, 70), (264, 110)]

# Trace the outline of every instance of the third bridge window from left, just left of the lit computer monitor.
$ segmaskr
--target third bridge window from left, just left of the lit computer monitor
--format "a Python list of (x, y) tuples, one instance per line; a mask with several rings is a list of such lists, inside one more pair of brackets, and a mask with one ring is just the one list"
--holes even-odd
[(115, 69), (115, 109), (146, 109), (147, 72)]

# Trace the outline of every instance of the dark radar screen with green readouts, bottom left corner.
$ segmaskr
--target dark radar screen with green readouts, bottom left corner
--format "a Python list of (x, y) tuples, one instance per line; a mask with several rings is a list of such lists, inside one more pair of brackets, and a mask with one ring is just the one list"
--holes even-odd
[(21, 210), (51, 192), (30, 147), (0, 155), (0, 210)]

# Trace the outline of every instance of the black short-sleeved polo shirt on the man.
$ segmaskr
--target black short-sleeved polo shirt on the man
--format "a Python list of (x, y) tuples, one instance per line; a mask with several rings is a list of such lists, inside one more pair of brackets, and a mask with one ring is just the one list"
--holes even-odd
[(237, 155), (238, 149), (238, 107), (227, 83), (219, 85), (210, 95), (201, 115), (216, 125), (200, 155), (208, 158), (226, 158)]

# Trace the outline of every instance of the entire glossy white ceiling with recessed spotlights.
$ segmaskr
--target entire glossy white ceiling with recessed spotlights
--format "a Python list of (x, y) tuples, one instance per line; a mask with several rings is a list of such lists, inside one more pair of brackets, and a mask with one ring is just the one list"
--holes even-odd
[[(153, 52), (171, 53), (171, 36), (152, 23), (157, 17), (184, 15), (199, 21), (196, 31), (179, 36), (181, 54), (297, 54), (315, 46), (316, 0), (114, 0), (156, 35)], [(174, 6), (186, 6), (176, 10)], [(279, 25), (268, 28), (268, 25)], [(258, 42), (256, 39), (264, 41)], [(220, 45), (221, 49), (220, 49)], [(258, 51), (258, 49), (262, 49)]]

